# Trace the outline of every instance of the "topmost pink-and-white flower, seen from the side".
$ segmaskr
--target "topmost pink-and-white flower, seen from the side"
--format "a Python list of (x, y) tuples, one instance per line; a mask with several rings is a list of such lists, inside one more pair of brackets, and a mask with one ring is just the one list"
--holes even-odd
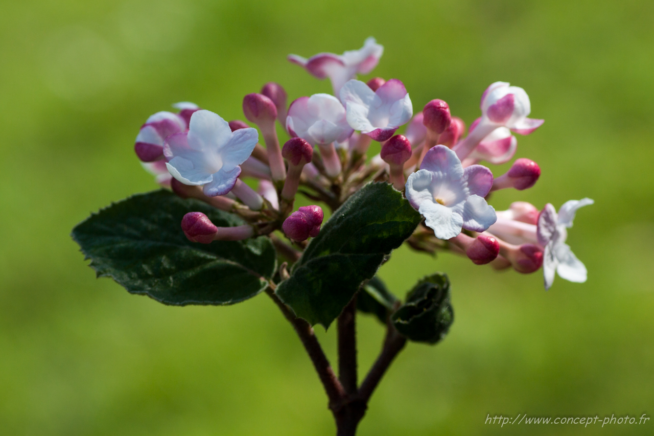
[(377, 66), (383, 52), (384, 47), (370, 37), (359, 50), (350, 50), (342, 55), (318, 53), (307, 59), (297, 54), (289, 54), (288, 60), (301, 65), (318, 79), (329, 77), (334, 87), (334, 94), (338, 96), (343, 84), (354, 79), (357, 73), (370, 73)]

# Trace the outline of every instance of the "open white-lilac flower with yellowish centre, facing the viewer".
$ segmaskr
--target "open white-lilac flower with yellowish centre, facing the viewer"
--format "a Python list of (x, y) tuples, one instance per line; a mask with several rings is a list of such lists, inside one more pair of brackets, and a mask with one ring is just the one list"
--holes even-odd
[(461, 228), (483, 232), (496, 221), (495, 209), (484, 199), (491, 186), (488, 168), (464, 169), (451, 149), (436, 145), (424, 156), (421, 169), (409, 175), (406, 197), (437, 238), (450, 239)]

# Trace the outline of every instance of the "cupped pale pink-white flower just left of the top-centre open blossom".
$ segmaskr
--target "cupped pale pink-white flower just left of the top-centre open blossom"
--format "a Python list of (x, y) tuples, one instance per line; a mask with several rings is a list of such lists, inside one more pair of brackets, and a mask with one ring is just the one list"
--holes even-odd
[(329, 94), (313, 94), (293, 101), (288, 108), (286, 129), (291, 136), (301, 137), (311, 145), (343, 142), (354, 132), (345, 119), (345, 107)]

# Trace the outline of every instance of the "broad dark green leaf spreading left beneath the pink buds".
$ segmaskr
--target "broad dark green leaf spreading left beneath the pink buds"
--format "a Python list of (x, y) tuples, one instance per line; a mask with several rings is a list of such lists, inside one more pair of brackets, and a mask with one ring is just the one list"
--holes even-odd
[(270, 240), (190, 242), (181, 221), (191, 211), (205, 213), (218, 227), (245, 224), (232, 213), (162, 189), (102, 209), (72, 236), (98, 277), (109, 276), (130, 293), (164, 304), (233, 304), (263, 291), (276, 266)]

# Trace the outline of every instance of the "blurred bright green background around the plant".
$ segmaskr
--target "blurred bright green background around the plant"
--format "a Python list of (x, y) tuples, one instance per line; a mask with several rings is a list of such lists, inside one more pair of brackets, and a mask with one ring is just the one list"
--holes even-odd
[[(326, 397), (265, 296), (167, 307), (96, 280), (71, 228), (156, 189), (133, 153), (148, 115), (195, 101), (226, 119), (267, 81), (290, 98), (330, 92), (286, 62), (385, 46), (375, 71), (414, 110), (448, 101), (470, 123), (494, 81), (522, 86), (532, 117), (517, 157), (542, 177), (503, 191), (557, 209), (589, 196), (569, 244), (584, 284), (498, 273), (399, 249), (398, 295), (424, 274), (453, 282), (438, 346), (409, 344), (360, 435), (634, 435), (646, 425), (510, 426), (487, 414), (654, 416), (654, 3), (647, 0), (34, 1), (0, 14), (0, 433), (333, 435)], [(367, 79), (369, 75), (364, 77)], [(504, 168), (493, 168), (496, 174)], [(361, 316), (366, 370), (383, 335)], [(318, 335), (334, 359), (334, 329)]]

